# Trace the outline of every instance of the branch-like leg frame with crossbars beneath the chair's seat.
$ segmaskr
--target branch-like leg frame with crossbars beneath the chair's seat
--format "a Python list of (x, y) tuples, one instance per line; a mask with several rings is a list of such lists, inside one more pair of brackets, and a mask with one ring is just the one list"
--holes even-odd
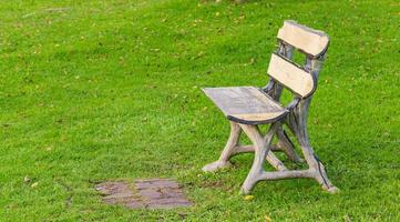
[[(252, 141), (253, 145), (239, 145), (242, 131)], [(301, 134), (301, 133), (300, 133)], [(306, 133), (302, 133), (306, 134)], [(274, 135), (279, 139), (278, 145), (271, 145)], [(283, 180), (294, 178), (311, 178), (321, 184), (324, 190), (336, 193), (338, 189), (329, 181), (324, 164), (314, 154), (312, 148), (308, 144), (308, 138), (298, 138), (302, 154), (309, 165), (307, 170), (288, 170), (285, 164), (274, 154), (274, 150), (284, 151), (295, 162), (301, 159), (294, 150), (291, 141), (283, 131), (281, 122), (270, 124), (265, 137), (261, 135), (258, 125), (240, 124), (230, 121), (230, 135), (219, 159), (203, 168), (205, 172), (214, 172), (218, 169), (230, 167), (229, 159), (238, 153), (254, 152), (252, 169), (242, 185), (242, 193), (249, 193), (259, 181)], [(280, 145), (279, 145), (280, 143)], [(284, 144), (284, 145), (283, 145)], [(264, 162), (268, 161), (277, 171), (266, 172), (263, 169)]]

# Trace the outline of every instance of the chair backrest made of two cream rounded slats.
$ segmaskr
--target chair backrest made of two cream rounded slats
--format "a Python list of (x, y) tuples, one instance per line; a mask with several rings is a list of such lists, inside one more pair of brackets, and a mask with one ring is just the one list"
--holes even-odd
[(285, 21), (284, 27), (279, 29), (278, 40), (279, 49), (270, 58), (268, 74), (301, 98), (309, 97), (317, 88), (315, 70), (307, 63), (296, 64), (291, 61), (291, 56), (283, 53), (281, 49), (296, 48), (306, 56), (308, 63), (320, 61), (328, 49), (329, 37), (295, 21)]

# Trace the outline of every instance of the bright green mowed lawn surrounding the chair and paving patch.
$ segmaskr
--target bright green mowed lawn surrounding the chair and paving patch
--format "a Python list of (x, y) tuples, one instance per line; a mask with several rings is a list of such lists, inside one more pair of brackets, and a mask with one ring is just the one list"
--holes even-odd
[[(0, 18), (1, 221), (400, 221), (398, 1), (12, 0)], [(253, 154), (201, 171), (229, 132), (201, 88), (265, 85), (287, 19), (331, 39), (309, 131), (340, 193), (286, 180), (246, 201)], [(194, 205), (93, 189), (139, 178), (175, 179)]]

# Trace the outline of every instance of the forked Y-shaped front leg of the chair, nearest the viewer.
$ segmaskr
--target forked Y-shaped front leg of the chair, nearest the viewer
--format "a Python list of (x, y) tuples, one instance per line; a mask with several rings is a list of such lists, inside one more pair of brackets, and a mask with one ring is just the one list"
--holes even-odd
[[(267, 153), (273, 153), (273, 152), (269, 152), (269, 150), (270, 150), (270, 143), (273, 141), (273, 138), (274, 138), (274, 134), (276, 131), (276, 123), (273, 123), (270, 125), (265, 139), (260, 134), (257, 125), (240, 124), (240, 127), (245, 131), (247, 137), (250, 139), (250, 141), (254, 143), (254, 147), (255, 147), (255, 155), (254, 155), (252, 170), (248, 173), (245, 182), (242, 185), (242, 193), (249, 193), (252, 191), (252, 189), (255, 186), (255, 184), (260, 180), (260, 176), (263, 175), (263, 172), (264, 172), (263, 164), (266, 160)], [(276, 158), (275, 155), (271, 155), (271, 157), (273, 158), (270, 158), (270, 159), (273, 159), (273, 160), (274, 160), (274, 158)], [(267, 160), (268, 160), (268, 158), (267, 158)], [(279, 161), (278, 159), (276, 159), (276, 160)], [(268, 160), (268, 161), (270, 162), (270, 160)], [(280, 162), (280, 164), (284, 167), (284, 164), (281, 162)]]

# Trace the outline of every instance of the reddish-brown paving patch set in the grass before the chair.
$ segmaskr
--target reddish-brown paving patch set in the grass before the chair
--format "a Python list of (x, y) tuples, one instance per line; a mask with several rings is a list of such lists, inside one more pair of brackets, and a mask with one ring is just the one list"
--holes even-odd
[(124, 205), (131, 209), (173, 209), (191, 206), (181, 186), (168, 179), (145, 179), (134, 181), (107, 181), (95, 185), (106, 204)]

